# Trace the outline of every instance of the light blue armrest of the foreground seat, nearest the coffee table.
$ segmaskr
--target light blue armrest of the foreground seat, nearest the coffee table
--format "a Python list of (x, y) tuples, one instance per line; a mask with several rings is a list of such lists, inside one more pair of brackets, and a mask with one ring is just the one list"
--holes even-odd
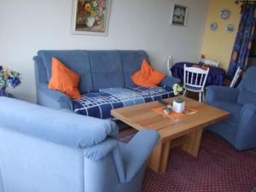
[(131, 142), (121, 150), (125, 166), (125, 182), (130, 182), (137, 172), (143, 168), (158, 140), (159, 134), (157, 131), (139, 131), (131, 139)]

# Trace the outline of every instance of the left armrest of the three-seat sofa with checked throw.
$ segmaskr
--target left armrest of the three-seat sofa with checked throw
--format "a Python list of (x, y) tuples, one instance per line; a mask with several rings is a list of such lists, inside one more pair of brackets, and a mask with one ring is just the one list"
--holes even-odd
[(38, 104), (55, 109), (73, 110), (73, 101), (58, 90), (49, 90), (48, 84), (38, 84)]

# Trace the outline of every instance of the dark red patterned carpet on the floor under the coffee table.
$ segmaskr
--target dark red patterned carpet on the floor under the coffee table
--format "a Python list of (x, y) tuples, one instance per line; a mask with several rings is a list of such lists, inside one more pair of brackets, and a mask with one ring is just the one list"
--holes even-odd
[[(136, 133), (120, 132), (120, 140), (128, 142)], [(143, 192), (251, 192), (256, 188), (256, 149), (236, 151), (224, 139), (205, 132), (197, 158), (179, 148), (172, 149), (168, 171), (145, 172)]]

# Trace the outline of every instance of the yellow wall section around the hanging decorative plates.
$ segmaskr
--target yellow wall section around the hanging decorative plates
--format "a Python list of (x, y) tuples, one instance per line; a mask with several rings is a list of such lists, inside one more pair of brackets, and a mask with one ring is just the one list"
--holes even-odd
[[(220, 18), (222, 9), (230, 9), (230, 18), (223, 20)], [(232, 0), (210, 0), (207, 16), (207, 26), (205, 38), (202, 44), (201, 53), (206, 55), (207, 59), (219, 61), (219, 67), (227, 69), (230, 64), (230, 55), (235, 43), (236, 32), (240, 22), (240, 9)], [(211, 30), (212, 21), (218, 23), (216, 31)], [(228, 24), (235, 26), (234, 32), (227, 32), (225, 27)]]

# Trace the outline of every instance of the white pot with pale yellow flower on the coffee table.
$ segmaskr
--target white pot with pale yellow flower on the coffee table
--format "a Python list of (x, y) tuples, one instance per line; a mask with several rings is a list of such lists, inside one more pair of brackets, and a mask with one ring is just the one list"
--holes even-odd
[[(178, 96), (180, 93), (183, 92), (183, 86), (181, 84), (173, 84), (172, 86), (173, 94)], [(185, 109), (185, 102), (182, 98), (177, 98), (172, 103), (172, 110), (176, 113), (183, 113)]]

